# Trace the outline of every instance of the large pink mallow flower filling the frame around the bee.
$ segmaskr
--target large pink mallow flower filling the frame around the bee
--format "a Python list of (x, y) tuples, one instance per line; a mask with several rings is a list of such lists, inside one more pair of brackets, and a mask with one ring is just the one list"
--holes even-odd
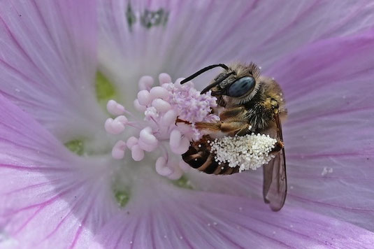
[[(371, 248), (373, 12), (371, 1), (0, 1), (0, 247)], [(135, 158), (124, 147), (150, 127), (134, 106), (142, 76), (175, 83), (230, 62), (257, 63), (285, 93), (279, 212), (263, 202), (261, 169), (211, 176), (169, 149), (157, 168), (162, 146)], [(107, 104), (127, 113), (121, 134), (106, 132)]]

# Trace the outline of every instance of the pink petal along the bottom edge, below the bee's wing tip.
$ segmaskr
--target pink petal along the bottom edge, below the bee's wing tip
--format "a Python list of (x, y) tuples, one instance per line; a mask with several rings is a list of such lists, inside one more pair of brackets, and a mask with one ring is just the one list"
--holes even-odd
[[(367, 248), (374, 234), (298, 208), (279, 213), (258, 201), (142, 184), (92, 248)], [(144, 192), (147, 192), (145, 194)]]

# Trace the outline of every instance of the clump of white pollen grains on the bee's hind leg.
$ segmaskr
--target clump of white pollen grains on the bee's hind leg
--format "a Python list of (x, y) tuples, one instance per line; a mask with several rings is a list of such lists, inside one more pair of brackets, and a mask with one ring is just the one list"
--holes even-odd
[(268, 164), (274, 155), (270, 152), (275, 148), (277, 140), (265, 134), (247, 134), (245, 136), (224, 136), (210, 142), (210, 152), (215, 153), (215, 161), (229, 163), (239, 172), (255, 170)]

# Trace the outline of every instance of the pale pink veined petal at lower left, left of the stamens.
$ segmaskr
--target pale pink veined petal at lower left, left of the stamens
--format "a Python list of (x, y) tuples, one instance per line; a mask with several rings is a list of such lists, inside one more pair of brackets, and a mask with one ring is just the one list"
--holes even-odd
[(17, 247), (90, 241), (116, 210), (109, 173), (106, 159), (72, 154), (0, 97), (0, 227)]

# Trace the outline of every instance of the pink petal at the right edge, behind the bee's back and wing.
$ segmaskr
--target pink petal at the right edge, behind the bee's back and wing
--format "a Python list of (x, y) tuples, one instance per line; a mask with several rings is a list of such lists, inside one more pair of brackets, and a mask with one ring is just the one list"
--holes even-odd
[(288, 100), (288, 202), (371, 230), (373, 54), (371, 29), (310, 45), (269, 70)]

